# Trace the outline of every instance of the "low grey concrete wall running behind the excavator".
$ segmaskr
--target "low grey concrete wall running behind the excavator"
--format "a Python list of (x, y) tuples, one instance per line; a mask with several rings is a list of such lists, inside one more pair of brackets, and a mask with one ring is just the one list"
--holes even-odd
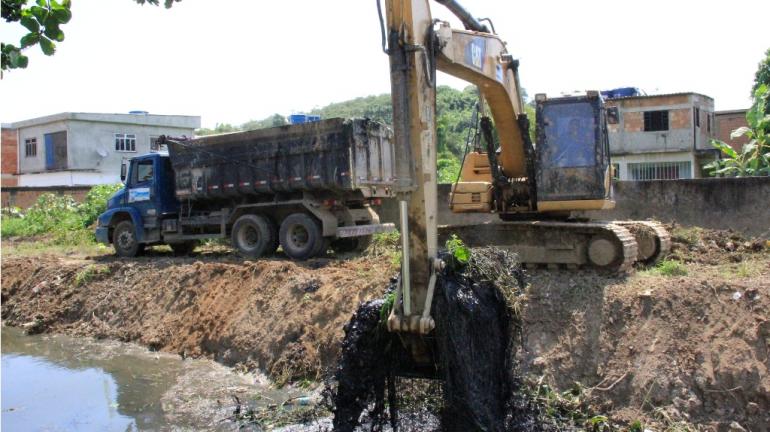
[[(615, 182), (616, 208), (594, 219), (657, 219), (685, 226), (733, 229), (770, 238), (770, 177)], [(452, 213), (450, 185), (439, 185), (439, 225), (501, 223), (494, 214)], [(383, 200), (383, 222), (398, 226), (398, 202)]]

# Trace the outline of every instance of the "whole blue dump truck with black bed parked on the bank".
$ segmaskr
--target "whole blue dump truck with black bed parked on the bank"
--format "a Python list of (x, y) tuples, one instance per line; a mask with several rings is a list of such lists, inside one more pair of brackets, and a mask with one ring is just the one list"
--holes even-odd
[(245, 257), (304, 260), (361, 250), (381, 224), (373, 209), (393, 196), (392, 131), (368, 119), (328, 119), (195, 139), (161, 136), (167, 153), (132, 158), (96, 237), (119, 256), (145, 246), (189, 253), (229, 238)]

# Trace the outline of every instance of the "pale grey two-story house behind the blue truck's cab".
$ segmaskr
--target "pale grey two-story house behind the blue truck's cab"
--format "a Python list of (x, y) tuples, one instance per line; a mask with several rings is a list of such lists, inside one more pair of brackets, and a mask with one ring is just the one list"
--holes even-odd
[[(199, 116), (61, 113), (3, 124), (4, 185), (78, 186), (117, 183), (123, 159), (160, 151), (160, 135), (193, 136)], [(5, 158), (4, 158), (5, 159)], [(6, 172), (14, 169), (12, 173)]]

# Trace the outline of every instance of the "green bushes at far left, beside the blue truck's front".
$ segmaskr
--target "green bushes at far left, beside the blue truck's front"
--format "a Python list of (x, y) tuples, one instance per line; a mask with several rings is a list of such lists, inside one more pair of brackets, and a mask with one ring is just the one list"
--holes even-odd
[(53, 244), (93, 243), (93, 225), (107, 208), (107, 199), (122, 185), (94, 186), (82, 203), (69, 195), (43, 194), (25, 212), (3, 214), (0, 235), (8, 237), (50, 236)]

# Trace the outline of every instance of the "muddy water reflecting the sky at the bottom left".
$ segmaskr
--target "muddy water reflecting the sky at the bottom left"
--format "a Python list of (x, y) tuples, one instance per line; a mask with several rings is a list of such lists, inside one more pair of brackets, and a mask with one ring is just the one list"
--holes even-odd
[(2, 328), (3, 430), (237, 430), (234, 397), (259, 409), (296, 395), (207, 360)]

